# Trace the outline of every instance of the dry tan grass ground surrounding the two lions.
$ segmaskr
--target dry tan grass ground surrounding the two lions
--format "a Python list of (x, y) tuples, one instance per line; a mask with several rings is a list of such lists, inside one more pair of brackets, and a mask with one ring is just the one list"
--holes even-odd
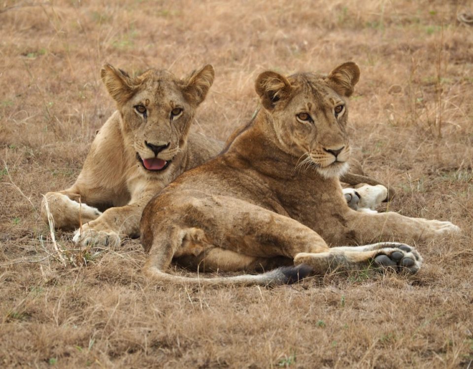
[[(34, 6), (33, 6), (34, 5)], [(471, 1), (0, 1), (0, 367), (473, 368)], [(359, 63), (355, 155), (390, 210), (451, 220), (414, 277), (277, 288), (146, 280), (138, 241), (78, 249), (38, 220), (114, 110), (101, 64), (216, 79), (194, 129), (225, 139), (265, 69)], [(290, 189), (288, 189), (290, 190)], [(178, 273), (186, 273), (177, 271)]]

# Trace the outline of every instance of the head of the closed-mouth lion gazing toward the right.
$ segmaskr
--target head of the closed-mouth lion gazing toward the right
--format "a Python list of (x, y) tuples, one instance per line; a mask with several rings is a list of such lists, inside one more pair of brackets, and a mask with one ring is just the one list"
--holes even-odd
[(286, 78), (272, 71), (258, 76), (256, 92), (277, 140), (284, 151), (301, 158), (300, 165), (315, 166), (327, 178), (347, 170), (345, 97), (359, 77), (354, 62), (339, 65), (328, 76), (299, 73)]

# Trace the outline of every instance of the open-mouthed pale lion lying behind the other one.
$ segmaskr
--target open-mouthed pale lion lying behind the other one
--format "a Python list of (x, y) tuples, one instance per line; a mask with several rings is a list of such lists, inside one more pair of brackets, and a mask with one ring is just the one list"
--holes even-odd
[(133, 78), (105, 64), (101, 79), (117, 111), (95, 137), (76, 182), (45, 195), (42, 217), (48, 221), (48, 205), (56, 227), (75, 229), (82, 223), (76, 243), (107, 245), (121, 236), (138, 237), (149, 199), (185, 170), (218, 154), (223, 144), (189, 133), (214, 79), (211, 65), (181, 80), (156, 69)]

